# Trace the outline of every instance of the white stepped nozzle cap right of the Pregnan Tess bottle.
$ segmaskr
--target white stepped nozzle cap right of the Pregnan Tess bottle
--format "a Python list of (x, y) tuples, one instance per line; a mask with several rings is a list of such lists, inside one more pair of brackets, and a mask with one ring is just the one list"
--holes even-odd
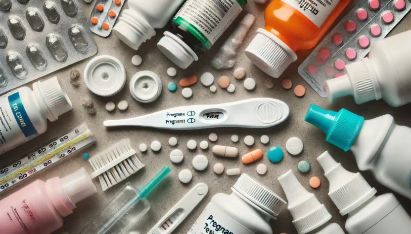
[(298, 234), (311, 232), (331, 219), (325, 206), (298, 182), (292, 170), (278, 177), (278, 181), (287, 196), (288, 210)]

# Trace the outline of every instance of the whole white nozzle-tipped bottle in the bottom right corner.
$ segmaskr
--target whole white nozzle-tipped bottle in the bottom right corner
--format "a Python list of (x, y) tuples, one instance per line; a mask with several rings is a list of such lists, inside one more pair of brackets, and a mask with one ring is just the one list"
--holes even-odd
[(411, 218), (393, 194), (374, 196), (377, 190), (360, 173), (347, 171), (327, 151), (317, 161), (330, 183), (328, 195), (341, 215), (348, 214), (349, 234), (410, 233)]

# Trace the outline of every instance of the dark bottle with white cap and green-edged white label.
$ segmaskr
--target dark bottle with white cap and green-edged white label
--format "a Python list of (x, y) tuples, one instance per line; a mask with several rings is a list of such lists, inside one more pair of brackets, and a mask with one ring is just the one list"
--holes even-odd
[(247, 0), (187, 0), (157, 46), (185, 69), (220, 38), (241, 13)]

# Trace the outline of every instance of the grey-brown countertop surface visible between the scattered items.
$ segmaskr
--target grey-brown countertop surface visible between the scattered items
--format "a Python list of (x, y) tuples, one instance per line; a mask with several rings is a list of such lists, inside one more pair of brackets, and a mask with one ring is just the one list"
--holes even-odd
[[(267, 3), (268, 4), (268, 3)], [(267, 5), (266, 4), (266, 5)], [(91, 9), (94, 2), (87, 4), (82, 2), (83, 10), (88, 18), (91, 13)], [(293, 63), (288, 69), (281, 75), (280, 78), (274, 79), (274, 87), (268, 89), (264, 86), (264, 82), (267, 78), (270, 78), (260, 69), (255, 67), (245, 56), (243, 51), (255, 36), (257, 28), (264, 26), (264, 9), (266, 5), (258, 5), (252, 0), (249, 1), (244, 9), (244, 12), (233, 23), (236, 25), (239, 20), (246, 14), (252, 13), (257, 17), (256, 23), (253, 25), (250, 33), (246, 37), (243, 45), (239, 49), (239, 53), (236, 56), (236, 67), (244, 67), (246, 69), (246, 77), (252, 77), (257, 81), (256, 89), (253, 91), (247, 91), (244, 88), (243, 80), (236, 80), (233, 77), (233, 69), (216, 70), (210, 66), (210, 61), (217, 53), (222, 43), (227, 39), (229, 34), (233, 31), (234, 27), (230, 27), (226, 33), (218, 40), (218, 42), (207, 53), (199, 56), (198, 62), (195, 62), (188, 69), (177, 69), (177, 76), (172, 78), (167, 75), (168, 67), (176, 67), (170, 62), (158, 49), (156, 43), (162, 36), (165, 29), (156, 30), (157, 34), (144, 43), (140, 49), (136, 52), (123, 44), (113, 33), (107, 38), (94, 35), (95, 41), (98, 47), (97, 55), (111, 55), (118, 58), (124, 65), (127, 71), (127, 84), (124, 89), (117, 95), (110, 98), (101, 98), (93, 95), (86, 87), (85, 83), (81, 80), (81, 85), (78, 88), (74, 88), (70, 85), (69, 73), (71, 69), (78, 69), (82, 74), (85, 66), (91, 60), (91, 58), (84, 61), (80, 61), (72, 66), (60, 69), (57, 72), (46, 75), (39, 80), (46, 80), (53, 76), (57, 76), (58, 79), (65, 86), (70, 100), (73, 102), (73, 110), (60, 116), (55, 122), (48, 123), (48, 130), (45, 134), (42, 134), (35, 139), (13, 149), (3, 155), (1, 155), (1, 165), (9, 165), (13, 163), (19, 157), (37, 150), (39, 147), (46, 144), (49, 140), (65, 134), (70, 129), (86, 123), (96, 138), (96, 144), (89, 147), (85, 152), (88, 152), (91, 156), (105, 150), (109, 145), (115, 143), (124, 138), (129, 138), (132, 142), (132, 146), (137, 150), (137, 155), (140, 161), (145, 165), (143, 169), (132, 175), (126, 181), (119, 185), (102, 192), (101, 186), (98, 180), (94, 180), (94, 184), (97, 187), (98, 192), (89, 198), (80, 201), (76, 204), (77, 208), (73, 214), (64, 218), (64, 226), (55, 231), (53, 234), (62, 234), (64, 232), (68, 234), (75, 234), (83, 225), (85, 225), (91, 217), (125, 184), (130, 182), (136, 188), (140, 188), (146, 181), (148, 181), (159, 169), (164, 166), (171, 167), (171, 173), (168, 178), (165, 179), (148, 197), (147, 200), (151, 204), (151, 209), (143, 217), (141, 222), (134, 224), (133, 229), (145, 234), (151, 229), (151, 227), (159, 221), (159, 219), (193, 187), (195, 184), (203, 182), (209, 187), (209, 192), (206, 198), (188, 215), (183, 223), (176, 229), (174, 233), (185, 234), (196, 221), (197, 217), (201, 214), (204, 207), (210, 201), (211, 197), (217, 193), (231, 193), (231, 186), (234, 185), (238, 176), (228, 176), (225, 173), (217, 175), (213, 171), (213, 166), (216, 163), (222, 163), (226, 169), (239, 167), (242, 173), (247, 173), (250, 176), (256, 178), (262, 184), (272, 189), (275, 193), (286, 199), (283, 190), (277, 178), (284, 172), (292, 169), (298, 180), (302, 185), (311, 193), (314, 193), (318, 200), (323, 203), (328, 211), (332, 215), (332, 222), (338, 223), (341, 227), (344, 227), (346, 217), (342, 217), (337, 207), (333, 204), (328, 197), (328, 181), (324, 177), (323, 170), (318, 164), (316, 158), (322, 154), (325, 150), (328, 150), (337, 162), (340, 162), (346, 169), (358, 172), (354, 156), (351, 152), (343, 152), (339, 148), (332, 146), (325, 142), (325, 135), (320, 129), (304, 122), (304, 116), (311, 103), (315, 103), (323, 108), (339, 110), (340, 108), (346, 108), (359, 115), (365, 117), (365, 119), (371, 119), (383, 114), (391, 114), (395, 117), (396, 122), (399, 125), (406, 125), (411, 127), (410, 121), (410, 104), (392, 108), (388, 106), (384, 101), (371, 101), (362, 105), (357, 105), (351, 97), (342, 98), (335, 101), (332, 105), (329, 105), (326, 99), (320, 98), (320, 96), (301, 78), (297, 73), (299, 64), (310, 54), (311, 51), (298, 52), (298, 61)], [(343, 12), (339, 19), (348, 12), (354, 5), (352, 2), (347, 9)], [(153, 6), (156, 7), (156, 6)], [(123, 9), (127, 9), (127, 2)], [(337, 20), (338, 21), (338, 20)], [(334, 24), (335, 25), (335, 24)], [(394, 35), (411, 29), (411, 15), (408, 14), (389, 34)], [(133, 55), (138, 54), (142, 57), (143, 62), (140, 66), (136, 67), (131, 63)], [(141, 104), (135, 101), (129, 92), (129, 82), (132, 76), (142, 70), (151, 70), (156, 72), (163, 84), (163, 91), (160, 98), (149, 104)], [(214, 84), (217, 86), (217, 92), (211, 93), (208, 87), (204, 87), (200, 82), (190, 88), (193, 90), (193, 96), (190, 99), (184, 99), (181, 92), (182, 88), (179, 86), (176, 92), (170, 92), (167, 90), (167, 84), (171, 81), (178, 83), (178, 81), (188, 75), (196, 75), (198, 78), (204, 72), (211, 72), (215, 77)], [(217, 85), (217, 79), (227, 75), (230, 78), (231, 83), (236, 87), (234, 93), (228, 93), (227, 90), (223, 90)], [(83, 78), (83, 75), (82, 75)], [(281, 81), (284, 78), (292, 80), (293, 85), (303, 85), (307, 92), (302, 98), (297, 98), (292, 90), (284, 90), (281, 86)], [(28, 84), (31, 87), (31, 84)], [(283, 100), (290, 107), (290, 116), (282, 124), (267, 129), (239, 129), (239, 128), (217, 128), (207, 130), (193, 130), (193, 131), (170, 131), (170, 130), (158, 130), (149, 128), (113, 128), (106, 129), (103, 127), (104, 120), (123, 119), (141, 116), (155, 111), (164, 110), (171, 107), (195, 105), (195, 104), (216, 104), (231, 102), (237, 100), (245, 100), (249, 98), (274, 98)], [(82, 107), (82, 100), (91, 99), (94, 102), (96, 108), (96, 115), (90, 116), (86, 110)], [(129, 108), (126, 111), (115, 111), (109, 113), (105, 110), (105, 103), (113, 101), (118, 103), (121, 100), (127, 100)], [(245, 115), (248, 113), (244, 113)], [(208, 135), (210, 133), (216, 133), (218, 135), (217, 142), (210, 142)], [(237, 134), (240, 140), (237, 143), (233, 143), (230, 139), (232, 134)], [(260, 137), (267, 134), (270, 137), (270, 142), (267, 145), (263, 145), (260, 141)], [(252, 147), (247, 147), (244, 144), (244, 137), (246, 135), (252, 135), (255, 138), (255, 144)], [(168, 139), (172, 136), (178, 138), (179, 143), (176, 147), (171, 147), (168, 144)], [(288, 138), (297, 136), (304, 142), (304, 150), (300, 155), (292, 156), (285, 150), (285, 142)], [(188, 140), (193, 139), (197, 144), (202, 140), (207, 140), (210, 143), (209, 149), (203, 151), (199, 147), (196, 150), (190, 151), (187, 149), (186, 143)], [(141, 153), (138, 150), (140, 143), (150, 145), (154, 140), (158, 140), (162, 144), (162, 149), (159, 153), (154, 153), (150, 149), (146, 153)], [(239, 155), (243, 155), (253, 149), (261, 148), (264, 151), (264, 157), (258, 162), (244, 165), (241, 163), (240, 157), (230, 160), (227, 158), (214, 156), (211, 152), (211, 148), (215, 145), (228, 145), (237, 147)], [(267, 150), (271, 146), (279, 146), (284, 151), (284, 158), (279, 163), (271, 163), (267, 158)], [(181, 149), (184, 153), (184, 161), (181, 164), (175, 165), (170, 161), (169, 154), (173, 149)], [(192, 167), (192, 158), (198, 154), (207, 156), (209, 166), (204, 171), (196, 171)], [(306, 160), (310, 163), (311, 169), (308, 173), (300, 173), (297, 169), (297, 164), (301, 160)], [(265, 175), (257, 174), (256, 167), (258, 164), (265, 164), (268, 167), (268, 171)], [(14, 186), (13, 188), (5, 191), (0, 195), (0, 199), (10, 195), (17, 189), (22, 188), (25, 185), (35, 181), (36, 179), (47, 180), (54, 176), (63, 177), (68, 175), (80, 167), (85, 167), (86, 170), (91, 173), (93, 170), (87, 160), (82, 159), (82, 153), (71, 156), (65, 159), (64, 163), (57, 164), (54, 167), (46, 169), (44, 172), (32, 176), (22, 183)], [(178, 174), (182, 169), (189, 169), (193, 174), (192, 181), (188, 184), (182, 184), (178, 179)], [(380, 185), (373, 178), (372, 174), (368, 171), (361, 172), (368, 183), (378, 190), (377, 195), (390, 193), (388, 188)], [(321, 179), (321, 185), (317, 189), (310, 187), (308, 181), (310, 177), (318, 176)], [(396, 197), (401, 201), (403, 206), (408, 212), (411, 211), (411, 202), (396, 194)], [(247, 215), (247, 214), (244, 214)], [(277, 220), (271, 220), (270, 224), (273, 228), (274, 234), (286, 233), (295, 234), (296, 230), (291, 223), (292, 217), (288, 210), (285, 208), (278, 216)]]

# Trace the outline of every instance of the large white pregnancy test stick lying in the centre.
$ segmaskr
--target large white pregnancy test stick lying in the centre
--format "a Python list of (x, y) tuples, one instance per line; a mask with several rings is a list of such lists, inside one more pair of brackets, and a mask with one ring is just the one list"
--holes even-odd
[(256, 98), (215, 105), (176, 107), (131, 119), (107, 120), (104, 121), (104, 126), (139, 126), (172, 130), (268, 128), (284, 122), (289, 114), (290, 109), (283, 101)]

